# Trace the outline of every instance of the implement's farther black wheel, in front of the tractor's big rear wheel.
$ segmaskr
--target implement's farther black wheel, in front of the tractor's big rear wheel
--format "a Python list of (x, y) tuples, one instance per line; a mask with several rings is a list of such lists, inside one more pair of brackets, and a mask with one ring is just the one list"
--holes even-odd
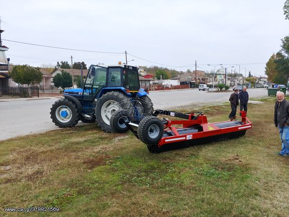
[(127, 110), (121, 109), (115, 111), (112, 114), (110, 119), (110, 125), (112, 127), (113, 132), (124, 133), (129, 130), (129, 128), (125, 125), (125, 121), (130, 121), (131, 117), (128, 114)]

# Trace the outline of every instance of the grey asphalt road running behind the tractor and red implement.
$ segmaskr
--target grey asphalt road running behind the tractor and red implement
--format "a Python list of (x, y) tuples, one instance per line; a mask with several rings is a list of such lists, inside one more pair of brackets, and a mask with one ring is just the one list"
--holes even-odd
[[(248, 89), (250, 98), (267, 96), (266, 89)], [(218, 104), (228, 102), (228, 93), (209, 93), (206, 91), (176, 90), (150, 92), (154, 109), (174, 109), (180, 106), (194, 106), (204, 104)], [(50, 119), (50, 107), (57, 98), (34, 98), (0, 100), (0, 140), (5, 140), (19, 135), (27, 135), (59, 129)], [(84, 124), (81, 121), (78, 124)]]

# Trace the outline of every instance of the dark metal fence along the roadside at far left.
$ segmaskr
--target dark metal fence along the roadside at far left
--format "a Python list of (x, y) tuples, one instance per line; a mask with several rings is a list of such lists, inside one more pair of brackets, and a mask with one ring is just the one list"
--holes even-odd
[(8, 87), (0, 89), (0, 99), (26, 98), (30, 97), (29, 95), (39, 97), (39, 87)]

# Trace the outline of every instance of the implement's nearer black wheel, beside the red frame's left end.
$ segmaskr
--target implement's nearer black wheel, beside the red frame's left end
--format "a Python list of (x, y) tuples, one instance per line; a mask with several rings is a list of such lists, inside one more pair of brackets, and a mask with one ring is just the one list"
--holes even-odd
[(157, 145), (163, 135), (163, 124), (160, 119), (154, 116), (148, 116), (141, 120), (138, 127), (139, 139), (153, 147)]

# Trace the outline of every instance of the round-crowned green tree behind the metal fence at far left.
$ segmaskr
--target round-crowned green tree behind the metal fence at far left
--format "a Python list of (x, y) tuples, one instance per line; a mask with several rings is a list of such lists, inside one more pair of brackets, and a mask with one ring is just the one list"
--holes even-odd
[(35, 68), (29, 65), (16, 65), (10, 73), (10, 77), (14, 82), (28, 86), (29, 96), (31, 96), (30, 86), (40, 83), (42, 76), (39, 67)]

